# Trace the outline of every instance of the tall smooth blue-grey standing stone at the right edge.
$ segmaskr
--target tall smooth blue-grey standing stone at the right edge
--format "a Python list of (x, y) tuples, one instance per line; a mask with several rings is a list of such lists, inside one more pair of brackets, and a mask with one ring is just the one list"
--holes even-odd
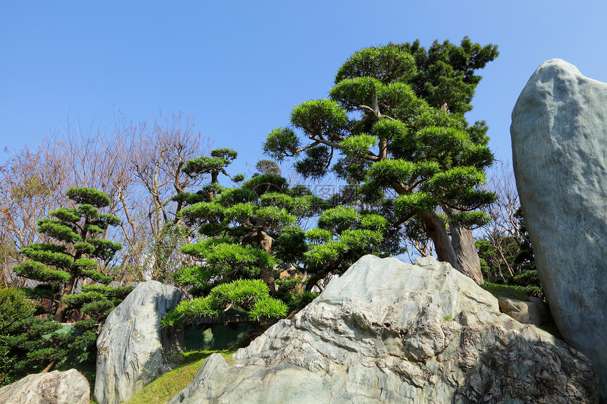
[(538, 275), (561, 335), (607, 403), (607, 84), (537, 68), (512, 111), (512, 158)]

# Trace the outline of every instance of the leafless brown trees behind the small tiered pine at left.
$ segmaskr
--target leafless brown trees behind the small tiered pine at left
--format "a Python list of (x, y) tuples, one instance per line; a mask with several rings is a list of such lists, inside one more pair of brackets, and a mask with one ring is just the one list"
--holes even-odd
[(110, 129), (68, 123), (36, 152), (24, 149), (0, 166), (3, 269), (10, 274), (9, 258), (37, 240), (37, 220), (69, 203), (66, 190), (85, 186), (106, 193), (112, 200), (108, 213), (122, 221), (103, 235), (124, 246), (112, 262), (100, 263), (104, 274), (123, 285), (150, 276), (167, 280), (180, 265), (178, 248), (185, 242), (176, 236), (184, 232), (174, 228), (181, 202), (172, 197), (203, 180), (186, 176), (181, 167), (208, 150), (208, 139), (181, 114), (158, 114), (149, 124), (118, 114)]

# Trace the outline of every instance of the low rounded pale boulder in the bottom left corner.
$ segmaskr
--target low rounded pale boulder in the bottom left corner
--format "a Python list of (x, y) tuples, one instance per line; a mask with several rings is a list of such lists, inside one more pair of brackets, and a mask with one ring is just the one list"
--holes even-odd
[(30, 374), (0, 388), (3, 404), (88, 404), (87, 379), (76, 369)]

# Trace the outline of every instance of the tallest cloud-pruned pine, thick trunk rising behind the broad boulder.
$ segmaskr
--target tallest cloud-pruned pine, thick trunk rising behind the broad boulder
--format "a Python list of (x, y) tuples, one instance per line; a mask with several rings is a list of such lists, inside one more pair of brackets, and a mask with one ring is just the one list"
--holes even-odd
[(361, 49), (339, 68), (330, 99), (295, 106), (291, 126), (272, 130), (264, 150), (277, 161), (299, 157), (306, 178), (331, 171), (347, 180), (395, 226), (417, 216), (438, 259), (482, 283), (471, 233), (459, 230), (488, 221), (479, 209), (495, 195), (479, 187), (493, 154), (484, 123), (469, 126), (464, 113), (475, 71), (497, 55), (467, 38), (428, 51), (419, 42)]

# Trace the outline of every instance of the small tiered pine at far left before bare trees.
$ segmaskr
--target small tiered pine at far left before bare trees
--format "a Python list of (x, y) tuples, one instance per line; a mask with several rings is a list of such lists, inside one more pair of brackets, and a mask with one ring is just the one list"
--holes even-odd
[(40, 282), (30, 295), (56, 302), (52, 311), (59, 322), (66, 320), (69, 309), (62, 298), (76, 293), (80, 281), (90, 278), (106, 285), (112, 281), (111, 276), (102, 273), (98, 261), (109, 262), (121, 248), (119, 243), (101, 237), (109, 226), (120, 223), (116, 216), (99, 212), (109, 206), (107, 195), (91, 188), (71, 188), (66, 195), (78, 206), (61, 207), (50, 212), (53, 219), (38, 221), (37, 231), (51, 242), (30, 244), (20, 250), (30, 260), (14, 268), (20, 276)]

